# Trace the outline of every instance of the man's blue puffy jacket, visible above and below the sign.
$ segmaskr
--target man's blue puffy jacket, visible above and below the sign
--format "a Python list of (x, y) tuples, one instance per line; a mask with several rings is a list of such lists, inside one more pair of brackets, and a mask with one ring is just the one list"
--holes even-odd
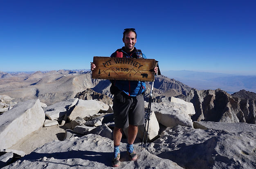
[[(124, 47), (117, 49), (110, 57), (133, 57), (146, 59), (146, 56), (141, 53), (141, 50), (134, 48), (130, 55), (128, 55), (124, 51)], [(114, 80), (112, 81), (112, 85), (115, 85), (119, 90), (131, 97), (138, 96), (146, 90), (146, 83), (144, 81)]]

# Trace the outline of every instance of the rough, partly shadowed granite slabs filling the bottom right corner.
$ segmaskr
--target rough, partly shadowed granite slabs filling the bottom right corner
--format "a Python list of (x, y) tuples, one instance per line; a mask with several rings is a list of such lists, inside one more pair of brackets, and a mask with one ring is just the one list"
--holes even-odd
[(167, 128), (148, 151), (185, 169), (256, 167), (254, 124), (194, 122), (194, 126)]

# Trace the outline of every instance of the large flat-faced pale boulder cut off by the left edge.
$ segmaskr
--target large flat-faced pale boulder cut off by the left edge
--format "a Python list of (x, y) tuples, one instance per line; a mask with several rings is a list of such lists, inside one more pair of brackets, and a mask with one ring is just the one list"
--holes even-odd
[(0, 149), (15, 145), (18, 140), (43, 127), (45, 112), (39, 99), (16, 104), (0, 118)]

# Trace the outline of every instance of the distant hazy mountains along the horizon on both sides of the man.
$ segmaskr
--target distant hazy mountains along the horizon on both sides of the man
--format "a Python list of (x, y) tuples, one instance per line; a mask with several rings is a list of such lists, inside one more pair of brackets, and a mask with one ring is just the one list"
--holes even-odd
[[(21, 77), (26, 78), (35, 78), (37, 76), (43, 75), (56, 75), (56, 74), (84, 74), (90, 70), (52, 70), (52, 71), (37, 71), (37, 72), (1, 72), (0, 71), (0, 79), (1, 78), (9, 78), (9, 77)], [(186, 84), (191, 88), (196, 88), (198, 90), (216, 90), (220, 88), (228, 92), (229, 94), (233, 94), (234, 92), (238, 92), (240, 90), (246, 90), (250, 92), (256, 93), (256, 75), (231, 75), (224, 73), (213, 73), (213, 72), (196, 72), (189, 70), (169, 70), (162, 72), (162, 75), (169, 77), (171, 79), (175, 79), (177, 81)], [(157, 85), (157, 81), (155, 82), (155, 86)], [(180, 90), (181, 91), (181, 90)], [(181, 91), (182, 92), (182, 91)], [(184, 92), (184, 91), (183, 91)]]

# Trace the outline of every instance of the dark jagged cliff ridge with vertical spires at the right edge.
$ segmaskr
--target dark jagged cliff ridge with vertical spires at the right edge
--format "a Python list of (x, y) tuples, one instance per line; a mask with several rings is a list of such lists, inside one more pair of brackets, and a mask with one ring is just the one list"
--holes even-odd
[(193, 121), (256, 123), (255, 100), (232, 97), (220, 89), (192, 89), (188, 96), (180, 98), (193, 103), (195, 108)]

